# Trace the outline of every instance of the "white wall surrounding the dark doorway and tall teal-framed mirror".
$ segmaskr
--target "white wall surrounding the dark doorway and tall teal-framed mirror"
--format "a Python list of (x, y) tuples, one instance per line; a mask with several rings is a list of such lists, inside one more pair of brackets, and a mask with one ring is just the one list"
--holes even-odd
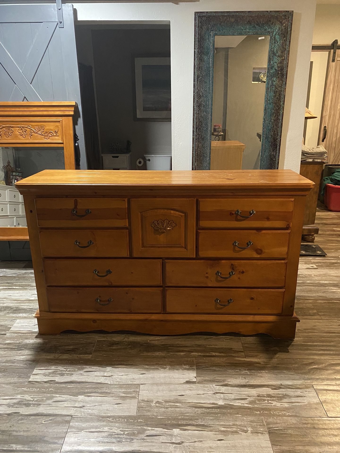
[(300, 168), (315, 6), (316, 0), (74, 4), (78, 21), (170, 21), (172, 168), (175, 170), (191, 169), (194, 12), (294, 10), (279, 166), (295, 171)]

